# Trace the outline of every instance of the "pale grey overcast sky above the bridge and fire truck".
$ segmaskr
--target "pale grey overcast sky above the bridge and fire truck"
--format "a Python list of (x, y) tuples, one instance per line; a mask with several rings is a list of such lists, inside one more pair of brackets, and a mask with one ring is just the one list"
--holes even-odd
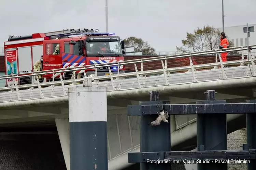
[[(255, 6), (224, 0), (225, 27), (255, 24)], [(176, 51), (197, 27), (222, 27), (221, 0), (108, 0), (108, 7), (109, 32), (142, 38), (156, 51)], [(105, 0), (1, 0), (0, 47), (9, 35), (81, 27), (105, 31)]]

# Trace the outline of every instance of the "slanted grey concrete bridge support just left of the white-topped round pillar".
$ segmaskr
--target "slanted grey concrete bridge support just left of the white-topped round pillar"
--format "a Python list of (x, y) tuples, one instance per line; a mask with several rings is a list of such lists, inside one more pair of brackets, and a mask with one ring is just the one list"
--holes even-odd
[(68, 119), (55, 119), (57, 131), (59, 135), (62, 153), (65, 159), (67, 170), (70, 170), (70, 157), (69, 157), (69, 120)]

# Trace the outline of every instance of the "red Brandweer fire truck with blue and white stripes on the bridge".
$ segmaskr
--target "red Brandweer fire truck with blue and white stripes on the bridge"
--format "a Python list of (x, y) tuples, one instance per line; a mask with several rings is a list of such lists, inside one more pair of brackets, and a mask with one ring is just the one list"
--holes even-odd
[[(25, 36), (9, 36), (4, 42), (6, 75), (24, 73), (27, 77), (16, 79), (21, 84), (34, 82), (31, 73), (34, 64), (43, 55), (43, 71), (65, 69), (68, 67), (108, 64), (124, 60), (124, 41), (115, 33), (99, 32), (98, 29), (66, 29), (48, 33), (34, 33)], [(110, 67), (112, 74), (117, 74), (117, 66)], [(124, 73), (125, 65), (119, 66)], [(85, 70), (87, 76), (109, 75), (108, 67)], [(83, 70), (75, 72), (84, 76)], [(27, 74), (26, 74), (27, 73)], [(71, 79), (73, 72), (62, 73), (63, 80)], [(46, 81), (59, 80), (59, 73), (45, 74)], [(6, 86), (13, 84), (13, 79), (6, 80)]]

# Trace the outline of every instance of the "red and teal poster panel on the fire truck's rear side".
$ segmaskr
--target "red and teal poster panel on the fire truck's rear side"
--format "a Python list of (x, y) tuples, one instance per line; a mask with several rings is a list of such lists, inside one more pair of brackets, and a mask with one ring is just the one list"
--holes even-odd
[[(7, 66), (7, 75), (17, 74), (17, 53), (16, 50), (6, 51), (6, 66)], [(15, 78), (17, 81), (18, 78)], [(13, 81), (12, 78), (9, 78), (8, 81)]]

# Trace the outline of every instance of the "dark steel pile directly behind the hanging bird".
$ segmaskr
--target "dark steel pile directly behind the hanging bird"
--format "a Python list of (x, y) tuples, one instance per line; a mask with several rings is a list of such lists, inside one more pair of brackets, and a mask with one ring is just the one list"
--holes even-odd
[[(170, 104), (169, 101), (159, 101), (159, 91), (150, 92), (150, 101), (140, 101), (143, 104)], [(164, 109), (164, 108), (159, 108)], [(141, 116), (141, 152), (167, 152), (171, 151), (171, 130), (170, 124), (161, 122), (157, 126), (149, 125), (155, 121), (158, 115), (142, 115)], [(170, 122), (170, 116), (168, 118)], [(157, 165), (156, 163), (141, 163), (141, 170), (167, 170), (170, 169), (170, 164)]]

